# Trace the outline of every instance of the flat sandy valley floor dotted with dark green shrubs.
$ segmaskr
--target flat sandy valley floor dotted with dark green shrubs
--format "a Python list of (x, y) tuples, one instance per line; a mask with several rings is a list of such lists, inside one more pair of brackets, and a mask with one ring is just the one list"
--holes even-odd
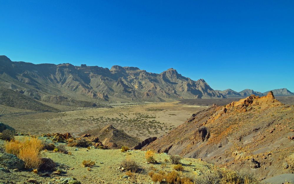
[[(161, 136), (206, 107), (183, 106), (177, 101), (142, 104), (112, 104), (113, 108), (79, 108), (64, 112), (34, 112), (0, 106), (0, 121), (16, 131), (40, 135), (70, 132), (78, 135), (112, 124), (131, 136), (145, 139)], [(60, 108), (60, 107), (59, 107)]]

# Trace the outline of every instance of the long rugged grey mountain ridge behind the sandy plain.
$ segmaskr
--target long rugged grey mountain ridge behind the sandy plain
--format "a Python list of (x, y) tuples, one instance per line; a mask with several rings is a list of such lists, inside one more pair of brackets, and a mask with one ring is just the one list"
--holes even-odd
[(173, 68), (157, 74), (136, 67), (12, 62), (6, 56), (0, 63), (0, 86), (38, 100), (46, 95), (85, 101), (224, 98), (203, 79), (193, 81)]

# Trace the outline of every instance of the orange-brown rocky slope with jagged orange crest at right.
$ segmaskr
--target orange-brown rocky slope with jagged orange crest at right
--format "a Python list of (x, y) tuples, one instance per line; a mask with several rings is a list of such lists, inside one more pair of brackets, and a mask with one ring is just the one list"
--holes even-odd
[(150, 143), (158, 152), (248, 168), (262, 176), (294, 172), (294, 106), (251, 95), (226, 106), (213, 105)]

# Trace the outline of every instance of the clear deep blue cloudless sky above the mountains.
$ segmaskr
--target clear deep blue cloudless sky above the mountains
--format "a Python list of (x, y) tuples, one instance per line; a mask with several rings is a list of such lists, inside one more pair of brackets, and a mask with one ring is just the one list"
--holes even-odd
[(294, 92), (294, 1), (0, 0), (0, 55)]

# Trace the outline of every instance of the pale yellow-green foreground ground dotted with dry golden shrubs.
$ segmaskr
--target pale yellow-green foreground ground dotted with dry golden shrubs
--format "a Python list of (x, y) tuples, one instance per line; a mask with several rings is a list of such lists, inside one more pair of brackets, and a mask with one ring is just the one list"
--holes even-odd
[[(62, 183), (63, 178), (75, 178), (72, 184), (81, 183), (248, 183), (253, 176), (247, 171), (234, 172), (199, 159), (173, 158), (166, 153), (155, 154), (154, 151), (140, 150), (103, 150), (64, 146), (55, 143), (58, 150), (44, 150), (41, 140), (16, 136), (14, 142), (0, 141), (1, 147), (9, 153), (24, 159), (25, 169), (9, 172), (0, 170), (0, 183)], [(51, 140), (46, 140), (50, 143)], [(17, 143), (13, 145), (12, 143)], [(48, 147), (48, 145), (46, 145)], [(45, 146), (45, 148), (47, 148)], [(34, 150), (34, 154), (19, 153)], [(36, 153), (39, 152), (39, 155)], [(25, 157), (24, 157), (25, 155)], [(50, 158), (56, 163), (52, 170), (43, 170), (38, 157)], [(152, 159), (151, 159), (152, 158)], [(147, 162), (148, 161), (148, 162)], [(1, 164), (0, 164), (1, 165)], [(36, 170), (33, 170), (36, 169)], [(48, 168), (47, 168), (48, 169)], [(40, 172), (41, 171), (41, 172)], [(135, 171), (135, 172), (134, 172)], [(255, 180), (254, 180), (255, 181)], [(258, 183), (256, 181), (256, 183)]]

